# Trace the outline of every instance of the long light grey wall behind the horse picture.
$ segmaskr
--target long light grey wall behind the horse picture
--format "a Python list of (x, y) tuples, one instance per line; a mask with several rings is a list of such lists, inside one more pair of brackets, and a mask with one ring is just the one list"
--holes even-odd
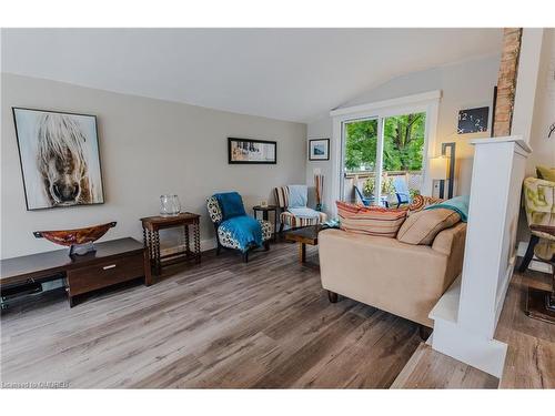
[[(176, 193), (183, 210), (203, 215), (201, 239), (208, 246), (213, 242), (213, 227), (206, 219), (206, 196), (236, 190), (252, 213), (252, 205), (271, 199), (274, 186), (304, 183), (305, 124), (7, 73), (1, 81), (2, 258), (59, 248), (34, 239), (37, 230), (118, 221), (103, 240), (133, 236), (142, 241), (139, 219), (159, 212), (163, 193)], [(26, 210), (11, 106), (98, 116), (105, 204)], [(228, 136), (278, 141), (278, 164), (229, 165)]]

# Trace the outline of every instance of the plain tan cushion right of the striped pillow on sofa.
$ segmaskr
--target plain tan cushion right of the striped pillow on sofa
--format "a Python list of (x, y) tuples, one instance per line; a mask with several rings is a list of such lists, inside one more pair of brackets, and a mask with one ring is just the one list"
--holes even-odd
[(461, 215), (447, 209), (415, 212), (401, 225), (397, 240), (407, 244), (431, 245), (440, 231), (460, 221)]

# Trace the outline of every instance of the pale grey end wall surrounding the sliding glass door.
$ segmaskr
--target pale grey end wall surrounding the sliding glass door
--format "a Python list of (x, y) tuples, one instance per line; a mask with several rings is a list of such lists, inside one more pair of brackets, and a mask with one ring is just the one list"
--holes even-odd
[[(440, 102), (440, 116), (437, 123), (437, 149), (440, 153), (442, 142), (456, 142), (456, 194), (470, 193), (472, 174), (473, 148), (470, 140), (490, 136), (490, 131), (474, 134), (456, 134), (458, 110), (492, 105), (493, 88), (497, 83), (500, 55), (476, 59), (458, 64), (434, 68), (421, 72), (395, 78), (359, 98), (346, 102), (343, 106), (371, 103), (432, 90), (442, 90), (443, 98)], [(490, 112), (490, 122), (491, 122)], [(324, 116), (307, 126), (309, 139), (332, 138), (332, 122), (330, 116)], [(331, 154), (331, 158), (336, 155)], [(331, 162), (311, 162), (306, 169), (306, 180), (312, 181), (313, 170), (320, 168), (324, 174), (331, 174)], [(330, 179), (325, 184), (330, 184)], [(309, 182), (310, 183), (310, 182)], [(325, 203), (334, 203), (330, 195), (330, 186), (324, 190)]]

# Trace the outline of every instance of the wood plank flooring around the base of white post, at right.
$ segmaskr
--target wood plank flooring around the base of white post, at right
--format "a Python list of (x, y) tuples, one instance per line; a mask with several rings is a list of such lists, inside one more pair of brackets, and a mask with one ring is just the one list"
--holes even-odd
[(549, 290), (549, 276), (533, 271), (513, 276), (495, 334), (508, 345), (501, 382), (423, 344), (392, 387), (555, 388), (555, 325), (525, 315), (528, 285)]

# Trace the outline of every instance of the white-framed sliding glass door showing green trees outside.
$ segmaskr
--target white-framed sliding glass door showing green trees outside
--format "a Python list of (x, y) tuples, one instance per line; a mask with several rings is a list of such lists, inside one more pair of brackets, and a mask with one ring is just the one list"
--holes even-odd
[(397, 206), (414, 194), (431, 193), (426, 166), (440, 95), (434, 91), (333, 111), (339, 143), (333, 197)]

